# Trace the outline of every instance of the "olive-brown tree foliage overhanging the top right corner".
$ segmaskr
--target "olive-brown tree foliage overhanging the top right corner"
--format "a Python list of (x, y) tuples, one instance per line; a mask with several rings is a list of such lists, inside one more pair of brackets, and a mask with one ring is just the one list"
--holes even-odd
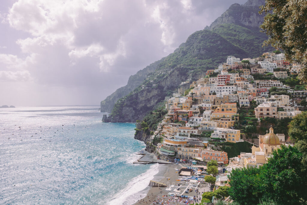
[(307, 1), (266, 0), (259, 14), (265, 13), (260, 26), (269, 36), (264, 45), (285, 52), (286, 60), (302, 63), (300, 78), (307, 81)]

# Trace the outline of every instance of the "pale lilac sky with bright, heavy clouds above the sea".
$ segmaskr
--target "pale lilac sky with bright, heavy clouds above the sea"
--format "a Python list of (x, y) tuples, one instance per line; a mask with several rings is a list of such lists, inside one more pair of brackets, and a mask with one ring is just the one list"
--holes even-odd
[(246, 1), (1, 1), (0, 106), (99, 105)]

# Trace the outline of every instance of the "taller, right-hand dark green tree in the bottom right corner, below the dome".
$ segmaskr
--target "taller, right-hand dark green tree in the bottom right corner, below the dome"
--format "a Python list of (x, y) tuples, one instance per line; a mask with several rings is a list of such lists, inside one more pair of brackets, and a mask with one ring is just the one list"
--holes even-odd
[[(281, 146), (263, 166), (265, 198), (278, 204), (306, 204), (307, 171), (303, 154), (295, 147)], [(282, 193), (282, 195), (280, 194)]]

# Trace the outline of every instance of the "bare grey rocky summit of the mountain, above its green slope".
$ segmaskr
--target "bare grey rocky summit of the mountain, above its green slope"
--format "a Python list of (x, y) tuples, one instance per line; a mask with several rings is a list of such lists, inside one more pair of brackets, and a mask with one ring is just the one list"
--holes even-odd
[(249, 0), (243, 5), (235, 3), (205, 29), (212, 30), (217, 25), (230, 23), (241, 26), (259, 27), (264, 17), (264, 14), (258, 14), (259, 6), (264, 4), (265, 0)]

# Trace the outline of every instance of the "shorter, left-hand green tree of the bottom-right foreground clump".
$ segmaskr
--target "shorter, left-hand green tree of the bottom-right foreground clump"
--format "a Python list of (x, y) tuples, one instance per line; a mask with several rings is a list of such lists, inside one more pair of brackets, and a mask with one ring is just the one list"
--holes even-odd
[(239, 204), (258, 204), (264, 192), (261, 168), (243, 168), (231, 171), (229, 179), (230, 197)]

